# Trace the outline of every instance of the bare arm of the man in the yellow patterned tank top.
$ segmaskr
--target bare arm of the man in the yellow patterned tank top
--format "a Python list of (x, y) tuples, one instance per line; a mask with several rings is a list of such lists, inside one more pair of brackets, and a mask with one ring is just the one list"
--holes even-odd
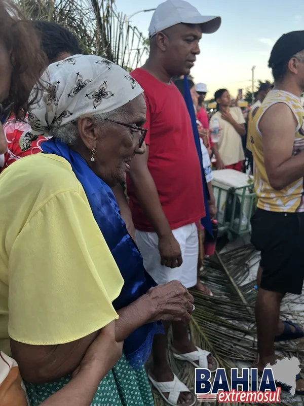
[(292, 156), (297, 121), (290, 108), (277, 103), (262, 116), (259, 130), (262, 133), (265, 170), (271, 186), (281, 190), (304, 175), (304, 154)]

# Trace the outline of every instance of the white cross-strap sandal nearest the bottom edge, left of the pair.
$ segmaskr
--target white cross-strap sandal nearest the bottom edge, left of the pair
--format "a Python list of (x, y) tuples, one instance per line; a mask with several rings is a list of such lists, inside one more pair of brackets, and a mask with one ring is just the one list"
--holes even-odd
[[(193, 395), (192, 392), (189, 391), (189, 389), (186, 387), (185, 384), (183, 384), (175, 374), (173, 381), (170, 382), (157, 382), (155, 381), (150, 374), (148, 374), (148, 378), (151, 381), (152, 385), (157, 389), (157, 391), (160, 393), (162, 398), (170, 404), (170, 406), (183, 406), (181, 403), (177, 403), (179, 395), (181, 392), (189, 392)], [(169, 397), (168, 399), (164, 395), (164, 393), (169, 392)], [(193, 403), (190, 404), (185, 404), (184, 406), (194, 406), (196, 402), (196, 398), (194, 399)]]

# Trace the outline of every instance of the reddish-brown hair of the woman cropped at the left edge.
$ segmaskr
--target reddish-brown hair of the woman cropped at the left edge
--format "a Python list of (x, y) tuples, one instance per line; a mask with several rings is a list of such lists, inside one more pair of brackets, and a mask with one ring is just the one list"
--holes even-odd
[(0, 0), (0, 41), (9, 51), (13, 66), (9, 101), (14, 103), (16, 119), (23, 120), (39, 94), (46, 61), (32, 23), (22, 18), (12, 0)]

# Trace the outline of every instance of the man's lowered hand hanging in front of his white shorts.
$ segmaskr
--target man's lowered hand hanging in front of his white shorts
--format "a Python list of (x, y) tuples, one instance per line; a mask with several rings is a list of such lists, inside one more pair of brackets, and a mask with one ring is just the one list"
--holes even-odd
[(180, 246), (173, 233), (159, 237), (161, 264), (168, 268), (176, 268), (182, 264)]

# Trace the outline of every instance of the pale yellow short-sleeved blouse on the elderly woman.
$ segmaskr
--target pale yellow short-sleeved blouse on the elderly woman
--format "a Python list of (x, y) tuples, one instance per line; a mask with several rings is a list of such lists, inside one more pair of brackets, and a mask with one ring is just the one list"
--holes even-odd
[(78, 340), (117, 319), (123, 278), (70, 164), (23, 158), (0, 176), (0, 350)]

